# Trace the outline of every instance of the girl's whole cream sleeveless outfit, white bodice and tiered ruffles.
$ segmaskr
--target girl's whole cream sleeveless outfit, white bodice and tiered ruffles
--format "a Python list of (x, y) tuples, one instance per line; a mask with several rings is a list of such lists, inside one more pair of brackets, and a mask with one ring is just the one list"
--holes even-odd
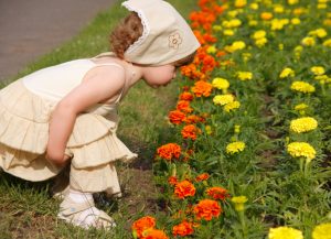
[[(1, 89), (0, 167), (28, 181), (44, 181), (58, 174), (62, 169), (45, 160), (51, 113), (90, 69), (104, 65), (122, 67), (76, 59), (40, 69)], [(66, 153), (73, 155), (70, 184), (78, 191), (119, 193), (114, 161), (137, 156), (116, 135), (116, 108), (130, 77), (126, 77), (114, 102), (98, 104), (76, 118)]]

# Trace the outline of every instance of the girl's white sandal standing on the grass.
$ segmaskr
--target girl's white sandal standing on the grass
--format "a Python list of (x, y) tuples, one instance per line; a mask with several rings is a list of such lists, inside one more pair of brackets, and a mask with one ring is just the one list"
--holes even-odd
[[(84, 218), (82, 218), (83, 211), (86, 214)], [(84, 203), (77, 204), (66, 197), (60, 206), (57, 217), (84, 229), (88, 229), (90, 227), (95, 227), (97, 229), (110, 229), (116, 227), (114, 219), (105, 211), (97, 209), (94, 202), (88, 199)], [(93, 217), (93, 221), (90, 221), (90, 217)]]

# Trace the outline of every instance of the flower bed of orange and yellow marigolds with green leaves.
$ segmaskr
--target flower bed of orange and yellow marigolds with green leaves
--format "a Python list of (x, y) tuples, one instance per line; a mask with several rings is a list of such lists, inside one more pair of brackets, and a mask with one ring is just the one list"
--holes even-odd
[(135, 238), (330, 238), (330, 2), (197, 4), (156, 155), (162, 213)]

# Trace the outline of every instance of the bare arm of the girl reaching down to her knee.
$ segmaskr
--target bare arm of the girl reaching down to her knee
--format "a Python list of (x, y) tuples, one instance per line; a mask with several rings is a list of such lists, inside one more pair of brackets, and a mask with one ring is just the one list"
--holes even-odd
[(64, 151), (77, 115), (118, 94), (124, 83), (125, 72), (118, 67), (102, 66), (90, 70), (82, 84), (65, 96), (53, 111), (46, 157), (56, 164), (63, 164), (68, 159)]

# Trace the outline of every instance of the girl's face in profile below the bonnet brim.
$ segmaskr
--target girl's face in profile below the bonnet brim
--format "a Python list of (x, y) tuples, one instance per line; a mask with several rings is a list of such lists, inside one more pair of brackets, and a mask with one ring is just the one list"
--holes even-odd
[(175, 78), (177, 67), (174, 65), (148, 66), (143, 73), (145, 82), (153, 87), (167, 86)]

